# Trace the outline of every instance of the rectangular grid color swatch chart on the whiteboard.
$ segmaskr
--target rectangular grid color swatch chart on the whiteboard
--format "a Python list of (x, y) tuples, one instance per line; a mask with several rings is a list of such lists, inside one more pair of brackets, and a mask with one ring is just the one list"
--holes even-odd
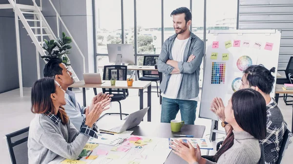
[(211, 63), (210, 84), (225, 84), (226, 62)]

